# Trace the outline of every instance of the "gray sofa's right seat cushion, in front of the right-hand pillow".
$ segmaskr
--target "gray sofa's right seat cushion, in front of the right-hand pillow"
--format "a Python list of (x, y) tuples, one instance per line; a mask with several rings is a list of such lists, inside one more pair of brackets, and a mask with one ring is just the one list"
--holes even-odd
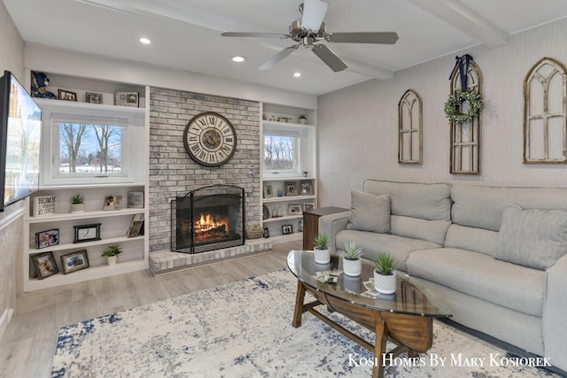
[(492, 256), (456, 248), (414, 251), (408, 274), (495, 305), (542, 316), (546, 274)]

